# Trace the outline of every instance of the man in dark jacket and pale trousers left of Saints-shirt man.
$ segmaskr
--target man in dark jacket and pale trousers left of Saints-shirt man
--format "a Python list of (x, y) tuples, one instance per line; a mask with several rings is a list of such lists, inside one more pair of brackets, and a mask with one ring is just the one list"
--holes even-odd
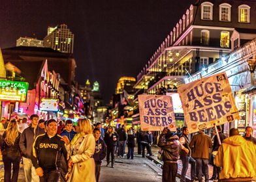
[(24, 163), (24, 174), (25, 181), (39, 181), (39, 176), (35, 172), (35, 167), (31, 162), (31, 151), (32, 145), (35, 138), (44, 133), (43, 129), (38, 127), (39, 116), (37, 114), (32, 114), (30, 116), (31, 125), (24, 129), (22, 135), (20, 136), (20, 150), (22, 151), (22, 159)]

